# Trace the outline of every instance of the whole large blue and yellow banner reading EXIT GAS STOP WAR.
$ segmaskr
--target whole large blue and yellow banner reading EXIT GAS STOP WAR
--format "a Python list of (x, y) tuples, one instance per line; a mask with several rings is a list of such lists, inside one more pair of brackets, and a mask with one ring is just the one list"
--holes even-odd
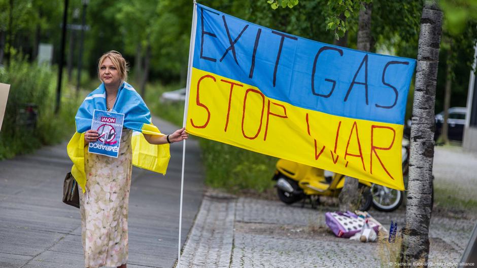
[(404, 189), (401, 140), (414, 59), (195, 9), (189, 133)]

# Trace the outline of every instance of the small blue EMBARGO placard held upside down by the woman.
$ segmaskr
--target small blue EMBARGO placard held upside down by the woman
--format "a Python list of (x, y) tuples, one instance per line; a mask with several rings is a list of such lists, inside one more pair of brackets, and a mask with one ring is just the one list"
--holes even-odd
[(89, 143), (88, 152), (117, 158), (123, 123), (124, 113), (94, 110), (91, 129), (97, 130), (99, 137)]

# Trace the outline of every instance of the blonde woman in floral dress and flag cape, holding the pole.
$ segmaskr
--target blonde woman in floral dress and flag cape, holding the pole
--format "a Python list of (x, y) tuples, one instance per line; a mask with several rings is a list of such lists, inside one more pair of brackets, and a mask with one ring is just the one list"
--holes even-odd
[[(126, 83), (127, 63), (119, 52), (110, 51), (101, 56), (98, 78), (103, 83), (85, 98), (79, 108), (77, 134), (70, 141), (68, 152), (75, 163), (72, 173), (82, 189), (80, 213), (85, 267), (125, 268), (132, 164), (165, 173), (169, 159), (167, 143), (187, 139), (188, 134), (182, 128), (164, 135), (151, 124), (149, 109)], [(94, 109), (124, 113), (118, 158), (87, 152), (89, 142), (98, 139), (98, 132), (90, 129)], [(143, 134), (133, 134), (133, 130)], [(138, 145), (141, 139), (154, 145)], [(158, 144), (166, 145), (154, 147)], [(147, 158), (141, 156), (144, 149), (148, 151)], [(155, 158), (151, 158), (151, 151), (152, 155), (156, 154)], [(146, 163), (139, 163), (141, 160)]]

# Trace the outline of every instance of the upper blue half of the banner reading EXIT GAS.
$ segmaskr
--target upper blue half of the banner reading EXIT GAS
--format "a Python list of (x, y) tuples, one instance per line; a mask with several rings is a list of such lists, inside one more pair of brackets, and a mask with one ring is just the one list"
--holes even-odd
[(253, 85), (269, 98), (298, 107), (404, 122), (414, 59), (304, 39), (199, 4), (195, 36), (195, 68)]

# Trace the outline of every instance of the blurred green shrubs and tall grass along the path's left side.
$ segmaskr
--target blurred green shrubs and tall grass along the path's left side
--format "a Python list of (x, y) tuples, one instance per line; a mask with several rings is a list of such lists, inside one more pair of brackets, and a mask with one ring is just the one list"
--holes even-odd
[[(53, 113), (55, 75), (46, 66), (29, 64), (25, 59), (12, 59), (0, 69), (0, 82), (10, 84), (5, 118), (0, 132), (0, 159), (24, 154), (43, 144), (60, 142), (74, 131), (76, 110), (63, 108)], [(64, 89), (63, 89), (64, 92)], [(63, 107), (75, 107), (75, 99), (63, 96)], [(28, 107), (38, 116), (32, 124)]]

